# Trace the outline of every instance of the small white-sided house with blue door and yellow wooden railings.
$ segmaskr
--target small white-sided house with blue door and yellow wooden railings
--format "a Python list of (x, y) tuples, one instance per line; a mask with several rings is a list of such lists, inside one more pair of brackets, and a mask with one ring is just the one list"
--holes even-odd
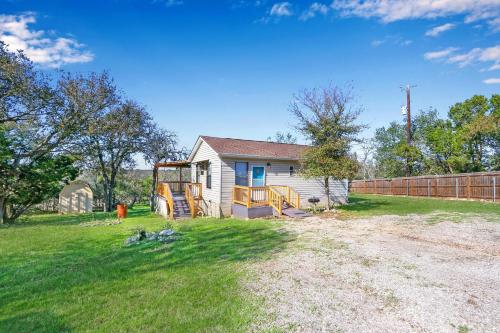
[[(306, 179), (299, 173), (307, 148), (200, 136), (187, 161), (160, 165), (190, 167), (191, 180), (160, 183), (157, 210), (171, 218), (303, 216), (301, 208), (327, 202), (324, 180)], [(331, 201), (346, 202), (347, 186), (347, 180), (330, 179)]]

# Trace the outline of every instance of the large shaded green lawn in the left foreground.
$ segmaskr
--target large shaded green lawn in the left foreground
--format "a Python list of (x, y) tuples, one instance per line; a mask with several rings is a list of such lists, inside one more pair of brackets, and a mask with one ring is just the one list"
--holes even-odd
[[(104, 219), (105, 214), (94, 214)], [(124, 246), (148, 208), (122, 224), (82, 227), (84, 216), (31, 216), (0, 228), (0, 332), (238, 332), (258, 314), (242, 292), (242, 263), (286, 246), (271, 221), (174, 224), (170, 244)]]

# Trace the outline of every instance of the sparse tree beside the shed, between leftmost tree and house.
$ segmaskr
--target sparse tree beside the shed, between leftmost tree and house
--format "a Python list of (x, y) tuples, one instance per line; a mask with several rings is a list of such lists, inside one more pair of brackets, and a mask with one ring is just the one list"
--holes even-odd
[(62, 86), (69, 107), (87, 117), (72, 148), (79, 152), (83, 165), (101, 177), (104, 209), (112, 211), (118, 174), (134, 166), (134, 154), (144, 147), (151, 118), (136, 102), (123, 101), (107, 73), (67, 75)]

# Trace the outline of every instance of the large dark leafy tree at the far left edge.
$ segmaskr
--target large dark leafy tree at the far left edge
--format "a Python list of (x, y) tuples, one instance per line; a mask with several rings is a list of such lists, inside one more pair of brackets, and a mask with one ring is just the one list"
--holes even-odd
[(14, 222), (76, 176), (65, 152), (83, 121), (59, 85), (0, 43), (0, 223)]

